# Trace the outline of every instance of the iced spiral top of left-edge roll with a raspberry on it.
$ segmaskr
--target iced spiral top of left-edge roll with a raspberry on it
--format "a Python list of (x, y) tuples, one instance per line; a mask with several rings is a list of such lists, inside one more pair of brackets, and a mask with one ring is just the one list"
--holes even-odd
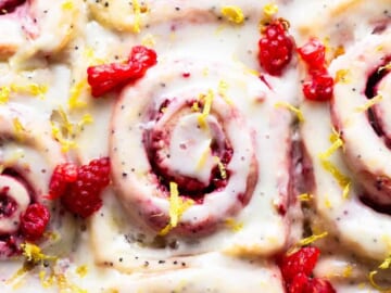
[[(0, 256), (7, 257), (17, 253), (21, 241), (42, 237), (48, 222), (38, 227), (38, 218), (47, 221), (52, 212), (52, 203), (45, 198), (50, 175), (65, 158), (48, 124), (17, 104), (0, 106)], [(51, 220), (54, 230), (56, 215)], [(41, 231), (29, 230), (31, 225)]]

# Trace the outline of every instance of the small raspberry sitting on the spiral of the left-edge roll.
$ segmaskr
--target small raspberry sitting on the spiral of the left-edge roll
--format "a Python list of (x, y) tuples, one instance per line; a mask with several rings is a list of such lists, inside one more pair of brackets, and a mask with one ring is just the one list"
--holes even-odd
[(21, 232), (29, 241), (38, 240), (45, 232), (50, 220), (49, 209), (40, 204), (30, 204), (21, 215)]

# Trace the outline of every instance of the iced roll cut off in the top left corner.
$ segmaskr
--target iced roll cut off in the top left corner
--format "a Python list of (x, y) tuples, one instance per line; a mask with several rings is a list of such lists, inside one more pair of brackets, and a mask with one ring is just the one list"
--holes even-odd
[(0, 58), (20, 52), (50, 55), (63, 49), (76, 29), (78, 0), (7, 0), (0, 2)]

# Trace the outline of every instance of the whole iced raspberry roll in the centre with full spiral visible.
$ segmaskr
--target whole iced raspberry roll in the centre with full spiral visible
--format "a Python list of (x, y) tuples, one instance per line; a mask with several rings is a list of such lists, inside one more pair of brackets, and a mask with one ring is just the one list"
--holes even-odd
[[(280, 252), (290, 233), (292, 116), (277, 93), (289, 97), (235, 62), (188, 55), (162, 56), (125, 87), (110, 135), (117, 199), (103, 196), (92, 216), (96, 262), (198, 276), (207, 269), (200, 257), (240, 265)], [(265, 266), (274, 276), (276, 266)]]

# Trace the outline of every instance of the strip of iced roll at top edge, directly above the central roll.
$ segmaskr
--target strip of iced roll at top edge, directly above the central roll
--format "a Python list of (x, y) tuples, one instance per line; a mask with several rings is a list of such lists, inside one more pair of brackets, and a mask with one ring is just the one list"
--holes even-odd
[[(143, 27), (169, 21), (204, 23), (227, 20), (241, 24), (245, 17), (258, 17), (262, 3), (248, 1), (139, 1), (88, 0), (88, 8), (93, 18), (104, 26), (119, 31), (140, 33)], [(266, 3), (266, 1), (265, 1)]]

